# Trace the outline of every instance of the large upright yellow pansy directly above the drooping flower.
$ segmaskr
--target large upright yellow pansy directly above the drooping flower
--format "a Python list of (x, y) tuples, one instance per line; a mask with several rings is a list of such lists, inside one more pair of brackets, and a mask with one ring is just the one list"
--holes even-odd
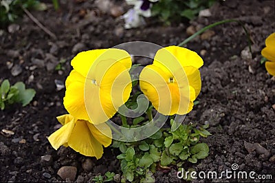
[(64, 106), (75, 118), (100, 124), (111, 118), (131, 93), (131, 56), (124, 50), (80, 52), (66, 80)]

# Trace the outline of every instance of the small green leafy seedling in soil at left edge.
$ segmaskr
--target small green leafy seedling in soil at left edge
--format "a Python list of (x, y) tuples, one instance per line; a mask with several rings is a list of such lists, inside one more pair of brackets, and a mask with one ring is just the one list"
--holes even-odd
[(6, 106), (14, 103), (21, 103), (25, 107), (32, 101), (36, 92), (34, 89), (25, 89), (23, 82), (17, 82), (10, 86), (10, 82), (5, 79), (1, 83), (0, 94), (0, 109), (3, 110)]

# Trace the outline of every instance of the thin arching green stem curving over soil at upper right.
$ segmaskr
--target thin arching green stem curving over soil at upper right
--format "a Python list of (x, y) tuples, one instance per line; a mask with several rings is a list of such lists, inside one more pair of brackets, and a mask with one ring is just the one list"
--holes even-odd
[(245, 31), (246, 37), (248, 39), (248, 46), (250, 48), (250, 53), (252, 54), (252, 50), (251, 50), (251, 39), (250, 39), (250, 35), (248, 34), (248, 30), (245, 28), (245, 26), (243, 25), (243, 23), (241, 23), (241, 21), (238, 20), (234, 20), (234, 19), (228, 19), (228, 20), (223, 20), (223, 21), (218, 21), (216, 23), (212, 23), (208, 26), (206, 26), (205, 28), (202, 28), (201, 30), (199, 30), (198, 32), (196, 32), (195, 34), (192, 34), (192, 36), (189, 36), (186, 40), (182, 41), (181, 43), (179, 43), (178, 46), (183, 46), (186, 43), (188, 43), (189, 41), (191, 41), (192, 39), (194, 39), (196, 36), (198, 36), (199, 34), (205, 32), (206, 30), (213, 28), (217, 25), (221, 25), (223, 23), (228, 23), (228, 22), (236, 22), (239, 23), (241, 25), (241, 27), (243, 28), (243, 30)]

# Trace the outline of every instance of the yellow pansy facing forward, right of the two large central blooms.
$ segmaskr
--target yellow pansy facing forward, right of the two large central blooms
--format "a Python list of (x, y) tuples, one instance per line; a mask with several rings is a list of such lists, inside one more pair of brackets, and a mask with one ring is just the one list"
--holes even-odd
[(140, 88), (159, 113), (187, 114), (201, 90), (202, 65), (196, 52), (184, 47), (164, 47), (155, 54), (153, 64), (142, 69)]

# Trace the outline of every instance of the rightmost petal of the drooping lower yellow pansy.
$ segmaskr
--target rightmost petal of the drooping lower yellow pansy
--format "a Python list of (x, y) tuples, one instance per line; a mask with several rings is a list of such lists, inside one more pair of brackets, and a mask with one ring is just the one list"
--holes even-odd
[(104, 145), (104, 147), (108, 147), (111, 144), (112, 133), (110, 127), (106, 123), (95, 126), (87, 122), (87, 126), (91, 134), (93, 134), (94, 138), (96, 138), (100, 144)]

